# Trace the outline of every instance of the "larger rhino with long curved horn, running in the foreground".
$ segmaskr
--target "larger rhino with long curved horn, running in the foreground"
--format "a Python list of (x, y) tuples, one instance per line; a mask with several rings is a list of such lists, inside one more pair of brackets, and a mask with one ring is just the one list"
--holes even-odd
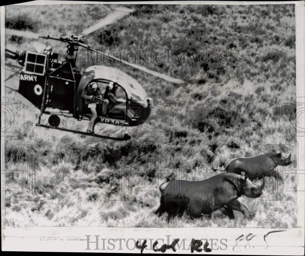
[(181, 217), (184, 212), (191, 218), (210, 218), (217, 210), (230, 219), (234, 218), (233, 210), (251, 219), (255, 213), (250, 212), (237, 198), (242, 195), (260, 197), (265, 185), (264, 181), (261, 186), (252, 183), (244, 173), (222, 173), (202, 181), (172, 180), (162, 189), (164, 183), (160, 185), (160, 207), (155, 214), (160, 217), (167, 213), (167, 222), (177, 215)]

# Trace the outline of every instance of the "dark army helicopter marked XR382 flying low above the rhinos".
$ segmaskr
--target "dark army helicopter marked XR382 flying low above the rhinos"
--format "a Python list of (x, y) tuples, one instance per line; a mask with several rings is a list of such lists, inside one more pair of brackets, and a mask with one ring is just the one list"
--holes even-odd
[[(5, 46), (5, 57), (14, 59), (19, 64), (19, 66), (17, 66), (11, 63), (5, 63), (5, 65), (11, 67), (15, 71), (6, 81), (17, 74), (20, 74), (19, 88), (17, 91), (40, 110), (36, 126), (105, 139), (128, 140), (131, 137), (127, 134), (127, 127), (138, 126), (147, 120), (151, 113), (151, 103), (142, 85), (140, 85), (137, 80), (113, 67), (94, 65), (88, 67), (83, 73), (76, 67), (79, 47), (108, 56), (107, 53), (100, 52), (88, 45), (86, 36), (134, 11), (133, 9), (125, 7), (114, 9), (115, 11), (113, 13), (110, 13), (80, 34), (50, 36), (36, 34), (30, 31), (5, 29), (6, 34), (14, 36), (31, 39), (52, 39), (67, 44), (67, 55), (63, 62), (58, 61), (59, 54), (53, 52), (51, 46), (39, 42), (33, 43), (35, 51), (21, 50), (9, 44)], [(111, 58), (119, 60), (138, 70), (165, 79), (166, 81), (184, 83), (181, 79), (173, 78), (133, 63), (128, 63), (115, 56), (111, 56)], [(107, 85), (109, 86), (109, 84), (115, 83), (119, 88), (118, 91), (121, 98), (126, 99), (126, 103), (121, 104), (126, 108), (125, 114), (109, 115), (109, 113), (105, 114), (105, 111), (103, 111), (104, 95), (102, 95), (102, 97), (94, 98), (94, 101), (97, 103), (96, 112), (98, 116), (95, 120), (95, 124), (99, 122), (107, 125), (125, 126), (126, 131), (123, 137), (109, 137), (59, 126), (60, 117), (62, 116), (75, 118), (78, 121), (90, 120), (92, 117), (91, 111), (85, 104), (81, 94), (92, 82), (95, 82), (98, 85), (101, 92), (105, 91)], [(127, 110), (133, 111), (138, 118), (129, 118), (126, 114)], [(49, 115), (48, 124), (41, 123), (41, 116), (43, 114)]]

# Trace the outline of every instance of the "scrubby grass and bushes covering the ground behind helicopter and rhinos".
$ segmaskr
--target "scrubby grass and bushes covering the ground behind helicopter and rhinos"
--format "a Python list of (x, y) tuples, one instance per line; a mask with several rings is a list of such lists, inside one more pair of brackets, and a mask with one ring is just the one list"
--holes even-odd
[[(81, 32), (111, 12), (116, 5), (33, 5), (7, 6), (8, 28), (27, 29), (41, 34), (58, 35)], [(288, 144), (294, 149), (291, 166), (296, 168), (296, 142), (278, 131), (279, 124), (290, 129), (288, 115), (279, 122), (279, 104), (296, 97), (295, 15), (294, 5), (124, 5), (135, 11), (100, 31), (91, 34), (89, 44), (104, 52), (164, 52), (172, 49), (187, 58), (200, 52), (227, 52), (226, 64), (147, 64), (145, 67), (183, 79), (171, 84), (124, 64), (123, 70), (143, 85), (151, 97), (163, 103), (170, 99), (176, 115), (168, 118), (162, 133), (133, 136), (127, 142), (114, 142), (56, 130), (35, 127), (39, 110), (18, 93), (6, 90), (10, 101), (25, 105), (25, 132), (18, 139), (7, 139), (8, 169), (21, 169), (12, 153), (15, 144), (41, 144), (45, 154), (38, 158), (36, 192), (43, 201), (16, 201), (17, 192), (6, 192), (5, 223), (16, 226), (126, 226), (126, 227), (281, 227), (296, 226), (297, 204), (294, 191), (285, 195), (294, 200), (239, 199), (250, 211), (252, 220), (236, 213), (228, 218), (196, 219), (187, 216), (167, 224), (166, 216), (157, 218), (159, 184), (177, 178), (174, 168), (182, 168), (184, 150), (192, 145), (187, 157), (185, 178), (202, 180), (221, 171), (237, 157), (252, 157), (264, 144)], [(65, 56), (65, 45), (52, 45)], [(7, 36), (7, 43), (32, 49), (32, 41)], [(173, 60), (174, 55), (169, 56)], [(164, 56), (164, 60), (167, 56)], [(78, 52), (77, 66), (84, 69), (86, 52)], [(7, 73), (9, 75), (9, 73)], [(18, 78), (8, 86), (18, 88)], [(46, 117), (43, 121), (46, 122)], [(17, 124), (22, 125), (20, 120)], [(19, 122), (19, 123), (18, 123)], [(155, 115), (149, 125), (156, 125)], [(85, 129), (87, 123), (62, 120), (64, 127)], [(139, 132), (140, 128), (133, 128)], [(124, 129), (98, 125), (103, 134), (122, 133)], [(167, 145), (174, 147), (169, 156)], [(276, 150), (280, 146), (274, 146)], [(110, 148), (110, 149), (109, 149)], [(113, 149), (116, 148), (116, 149)], [(112, 149), (112, 150), (111, 150)], [(116, 151), (117, 150), (117, 151)], [(31, 156), (31, 149), (24, 156)], [(119, 154), (121, 152), (121, 154)], [(117, 196), (126, 180), (119, 172), (118, 157), (131, 157), (132, 194)], [(179, 164), (180, 161), (180, 164)], [(166, 173), (165, 173), (166, 172)], [(21, 175), (10, 175), (8, 184), (20, 187)], [(285, 188), (297, 185), (296, 177), (284, 176)], [(269, 183), (263, 196), (269, 194)], [(141, 189), (136, 189), (141, 188)], [(137, 191), (140, 190), (140, 191)], [(282, 198), (276, 195), (275, 198)], [(140, 200), (139, 200), (140, 199)]]

